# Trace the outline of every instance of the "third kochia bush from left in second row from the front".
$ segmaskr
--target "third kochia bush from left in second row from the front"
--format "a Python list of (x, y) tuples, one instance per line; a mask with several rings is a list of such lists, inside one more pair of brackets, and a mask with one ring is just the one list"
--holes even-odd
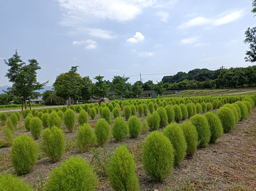
[(81, 153), (96, 144), (96, 136), (88, 123), (79, 126), (76, 136), (76, 146)]

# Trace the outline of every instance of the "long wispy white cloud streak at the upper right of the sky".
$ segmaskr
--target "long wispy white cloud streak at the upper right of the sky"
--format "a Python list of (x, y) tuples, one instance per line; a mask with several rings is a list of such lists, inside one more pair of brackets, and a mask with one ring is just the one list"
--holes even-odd
[(205, 17), (196, 17), (192, 18), (188, 22), (182, 23), (178, 26), (178, 29), (186, 29), (192, 26), (221, 26), (237, 19), (241, 18), (245, 14), (244, 10), (233, 11), (233, 12), (224, 12), (213, 18), (205, 18)]

